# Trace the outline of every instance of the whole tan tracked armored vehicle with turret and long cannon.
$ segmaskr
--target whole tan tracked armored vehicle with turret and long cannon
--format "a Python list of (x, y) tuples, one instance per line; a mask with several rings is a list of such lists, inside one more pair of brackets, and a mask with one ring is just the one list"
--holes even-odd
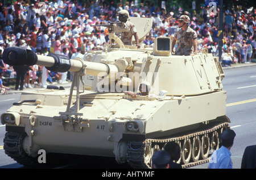
[[(140, 18), (140, 39), (151, 25), (150, 19)], [(219, 146), (218, 135), (230, 123), (218, 58), (207, 51), (171, 55), (170, 37), (157, 37), (153, 48), (139, 49), (112, 37), (118, 43), (86, 52), (83, 59), (5, 49), (7, 64), (73, 73), (70, 90), (23, 92), (20, 102), (1, 115), (6, 154), (23, 165), (36, 162), (43, 149), (151, 168), (152, 154), (176, 141), (183, 167), (209, 160)], [(139, 93), (141, 83), (147, 85), (147, 95)], [(127, 91), (138, 93), (131, 97)]]

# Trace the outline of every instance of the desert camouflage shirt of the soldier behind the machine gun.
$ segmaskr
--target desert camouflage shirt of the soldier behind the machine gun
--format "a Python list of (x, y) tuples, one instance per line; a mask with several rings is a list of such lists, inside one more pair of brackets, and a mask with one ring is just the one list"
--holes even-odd
[(122, 27), (121, 37), (123, 44), (125, 45), (133, 45), (131, 43), (131, 39), (133, 37), (133, 34), (136, 33), (137, 30), (133, 23), (127, 21), (124, 26)]

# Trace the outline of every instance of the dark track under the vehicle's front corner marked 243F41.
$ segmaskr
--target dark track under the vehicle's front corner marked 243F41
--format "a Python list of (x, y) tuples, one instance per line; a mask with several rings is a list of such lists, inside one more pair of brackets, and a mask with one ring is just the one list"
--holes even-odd
[(19, 164), (32, 167), (37, 165), (38, 162), (36, 158), (30, 157), (24, 152), (22, 141), (25, 136), (26, 133), (6, 132), (3, 139), (3, 149), (5, 149), (7, 156), (13, 158)]

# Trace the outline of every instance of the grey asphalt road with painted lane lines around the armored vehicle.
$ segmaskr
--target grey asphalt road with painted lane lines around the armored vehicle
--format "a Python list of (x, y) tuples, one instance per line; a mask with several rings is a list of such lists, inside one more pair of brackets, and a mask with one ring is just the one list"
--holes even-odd
[[(233, 168), (241, 168), (243, 150), (248, 145), (255, 145), (256, 129), (256, 66), (247, 66), (243, 68), (224, 69), (225, 78), (222, 80), (224, 90), (227, 91), (226, 114), (231, 120), (231, 128), (237, 136), (230, 152), (232, 153)], [(0, 95), (0, 114), (12, 106), (13, 102), (19, 101), (20, 93)], [(2, 148), (3, 137), (5, 135), (5, 125), (0, 124), (0, 168), (22, 168), (14, 160), (9, 158)], [(110, 161), (105, 161), (110, 162)], [(121, 168), (114, 164), (108, 168)], [(205, 169), (208, 164), (197, 165), (190, 169)], [(95, 167), (101, 167), (96, 165)], [(105, 167), (103, 167), (105, 168)]]

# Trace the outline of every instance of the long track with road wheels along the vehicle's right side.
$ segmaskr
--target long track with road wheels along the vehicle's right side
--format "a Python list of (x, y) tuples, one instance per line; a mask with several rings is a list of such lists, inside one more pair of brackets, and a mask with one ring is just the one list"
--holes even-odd
[[(149, 153), (150, 159), (152, 154), (157, 150), (163, 149), (164, 144), (170, 141), (183, 141), (185, 139), (193, 139), (196, 136), (204, 136), (209, 135), (213, 132), (221, 133), (222, 128), (229, 129), (228, 123), (221, 123), (214, 125), (212, 128), (208, 129), (201, 129), (200, 131), (187, 133), (184, 135), (176, 136), (176, 137), (167, 137), (163, 139), (146, 139), (144, 141), (129, 141), (127, 144), (127, 162), (132, 168), (151, 168), (151, 161), (148, 160), (147, 154), (148, 153), (148, 144), (150, 144), (151, 152)], [(210, 139), (210, 144), (211, 144)], [(181, 145), (182, 150), (182, 145)], [(210, 149), (211, 150), (211, 149)], [(210, 151), (209, 150), (209, 151)], [(191, 158), (192, 159), (192, 158)], [(191, 160), (187, 164), (182, 164), (182, 168), (189, 168), (192, 166), (200, 165), (206, 162), (209, 162), (210, 157), (207, 157), (202, 160), (198, 160), (196, 162), (191, 162)]]

